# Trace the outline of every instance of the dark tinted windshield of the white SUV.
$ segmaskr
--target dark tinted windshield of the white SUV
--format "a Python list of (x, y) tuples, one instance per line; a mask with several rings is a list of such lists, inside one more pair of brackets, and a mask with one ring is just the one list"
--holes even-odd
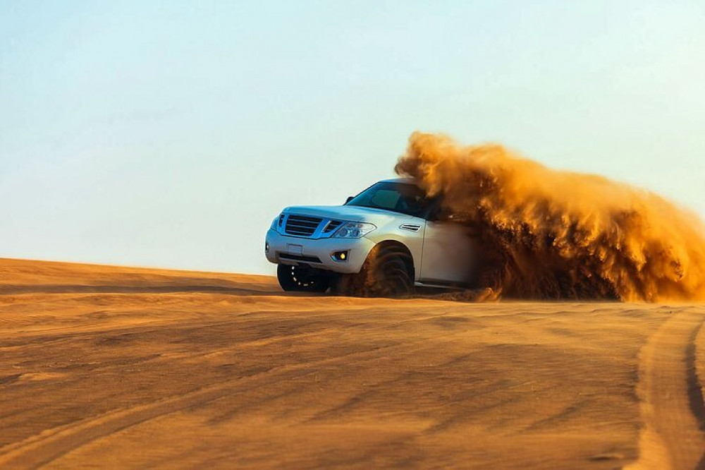
[(414, 184), (376, 183), (345, 205), (374, 207), (414, 217), (425, 217), (429, 209), (429, 199), (424, 191)]

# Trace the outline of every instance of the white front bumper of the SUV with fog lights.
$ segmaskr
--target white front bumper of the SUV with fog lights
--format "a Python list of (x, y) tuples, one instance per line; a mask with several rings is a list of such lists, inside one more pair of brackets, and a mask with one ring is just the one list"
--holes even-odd
[[(333, 272), (360, 272), (374, 241), (366, 239), (307, 239), (287, 236), (269, 229), (266, 232), (266, 259), (284, 265), (309, 265)], [(347, 260), (331, 258), (336, 251), (348, 251)]]

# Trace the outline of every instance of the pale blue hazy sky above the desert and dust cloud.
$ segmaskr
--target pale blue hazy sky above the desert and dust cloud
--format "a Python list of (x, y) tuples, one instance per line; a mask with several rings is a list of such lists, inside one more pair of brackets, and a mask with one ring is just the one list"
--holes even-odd
[(705, 3), (5, 1), (0, 257), (274, 273), (413, 131), (705, 215)]

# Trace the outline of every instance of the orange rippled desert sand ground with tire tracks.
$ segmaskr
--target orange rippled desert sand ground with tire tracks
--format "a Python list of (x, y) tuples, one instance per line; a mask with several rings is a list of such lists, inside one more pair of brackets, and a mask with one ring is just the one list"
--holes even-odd
[(0, 260), (0, 468), (705, 468), (705, 306)]

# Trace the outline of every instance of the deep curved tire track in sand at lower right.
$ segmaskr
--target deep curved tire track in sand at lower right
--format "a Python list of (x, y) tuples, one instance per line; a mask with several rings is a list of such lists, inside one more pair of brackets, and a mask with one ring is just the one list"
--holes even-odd
[(695, 369), (695, 338), (705, 316), (675, 313), (639, 354), (642, 428), (639, 459), (625, 469), (705, 469), (705, 404)]

